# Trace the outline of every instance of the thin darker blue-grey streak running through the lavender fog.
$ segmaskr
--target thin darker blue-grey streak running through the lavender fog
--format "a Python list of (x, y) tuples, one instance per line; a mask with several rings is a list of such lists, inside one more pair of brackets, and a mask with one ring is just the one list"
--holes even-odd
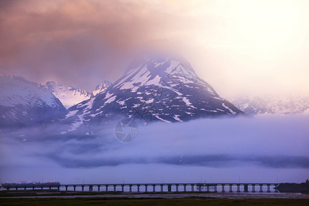
[(309, 169), (309, 157), (289, 157), (286, 155), (275, 157), (235, 157), (230, 155), (203, 155), (190, 157), (137, 157), (134, 159), (76, 159), (61, 157), (57, 154), (46, 156), (65, 168), (97, 168), (102, 166), (116, 166), (128, 164), (163, 163), (169, 165), (194, 165), (210, 168), (230, 168), (240, 165), (259, 165), (265, 168), (304, 168)]

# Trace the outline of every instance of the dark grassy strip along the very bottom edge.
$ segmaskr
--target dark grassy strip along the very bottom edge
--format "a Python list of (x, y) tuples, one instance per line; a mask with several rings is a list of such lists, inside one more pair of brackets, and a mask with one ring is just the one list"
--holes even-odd
[(308, 199), (222, 198), (10, 198), (0, 205), (309, 205)]

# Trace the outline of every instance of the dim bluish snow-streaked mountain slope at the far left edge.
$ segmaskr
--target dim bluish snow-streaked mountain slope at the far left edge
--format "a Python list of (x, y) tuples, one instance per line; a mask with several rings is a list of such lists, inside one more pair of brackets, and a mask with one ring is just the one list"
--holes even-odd
[(43, 124), (65, 113), (61, 102), (39, 84), (18, 76), (0, 76), (0, 126)]

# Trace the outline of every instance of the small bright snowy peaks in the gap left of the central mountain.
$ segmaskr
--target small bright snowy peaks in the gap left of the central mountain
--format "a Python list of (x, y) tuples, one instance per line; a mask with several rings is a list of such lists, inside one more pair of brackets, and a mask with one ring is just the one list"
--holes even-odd
[(69, 108), (84, 100), (89, 100), (89, 98), (104, 91), (110, 85), (111, 82), (104, 81), (104, 83), (98, 84), (92, 93), (60, 82), (46, 82), (46, 84), (42, 84), (42, 87), (45, 87), (49, 92), (53, 93), (65, 108)]

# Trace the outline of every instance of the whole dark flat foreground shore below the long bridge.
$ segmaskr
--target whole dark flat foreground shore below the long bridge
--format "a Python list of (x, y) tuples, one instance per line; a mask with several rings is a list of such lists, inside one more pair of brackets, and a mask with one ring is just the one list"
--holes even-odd
[(0, 192), (0, 205), (309, 205), (308, 194)]

